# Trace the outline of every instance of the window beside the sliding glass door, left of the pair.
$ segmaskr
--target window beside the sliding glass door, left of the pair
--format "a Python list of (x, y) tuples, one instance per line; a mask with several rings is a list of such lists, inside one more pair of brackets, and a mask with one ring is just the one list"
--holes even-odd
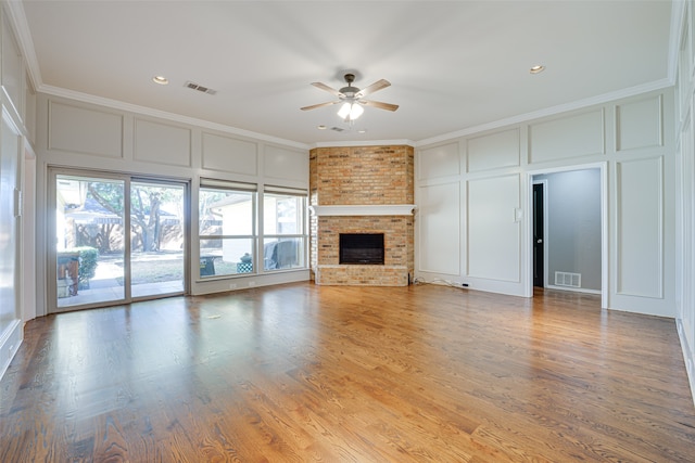
[(256, 185), (201, 179), (200, 278), (256, 273)]

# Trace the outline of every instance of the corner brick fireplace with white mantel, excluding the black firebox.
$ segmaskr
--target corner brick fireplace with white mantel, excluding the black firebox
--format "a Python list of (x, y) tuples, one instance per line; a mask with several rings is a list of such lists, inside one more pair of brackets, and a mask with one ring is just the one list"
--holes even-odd
[[(409, 283), (415, 267), (413, 155), (407, 145), (311, 151), (311, 267), (316, 284)], [(383, 233), (383, 265), (341, 265), (341, 233)]]

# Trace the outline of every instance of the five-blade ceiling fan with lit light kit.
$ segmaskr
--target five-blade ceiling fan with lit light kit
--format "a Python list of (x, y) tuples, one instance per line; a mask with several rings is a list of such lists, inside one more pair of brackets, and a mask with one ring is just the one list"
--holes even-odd
[(328, 87), (326, 83), (321, 82), (312, 82), (312, 85), (321, 90), (326, 90), (328, 93), (331, 93), (338, 97), (337, 101), (329, 101), (326, 103), (313, 104), (311, 106), (304, 106), (302, 111), (316, 110), (317, 107), (330, 106), (333, 104), (343, 103), (338, 115), (345, 120), (345, 123), (350, 123), (355, 120), (357, 117), (362, 115), (364, 108), (362, 106), (371, 106), (378, 107), (379, 110), (387, 111), (395, 111), (399, 108), (397, 104), (391, 103), (382, 103), (380, 101), (371, 101), (371, 100), (363, 100), (364, 97), (374, 93), (378, 90), (384, 89), (391, 86), (386, 79), (377, 80), (372, 85), (365, 87), (359, 90), (357, 87), (353, 87), (352, 82), (355, 80), (354, 74), (345, 74), (344, 76), (345, 82), (348, 82), (348, 87), (343, 87), (340, 90), (336, 90), (331, 87)]

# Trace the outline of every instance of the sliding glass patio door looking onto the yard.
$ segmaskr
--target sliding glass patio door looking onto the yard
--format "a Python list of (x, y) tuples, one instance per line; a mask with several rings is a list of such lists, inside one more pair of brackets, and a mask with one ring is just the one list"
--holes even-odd
[(50, 169), (49, 312), (187, 292), (185, 205), (175, 180)]

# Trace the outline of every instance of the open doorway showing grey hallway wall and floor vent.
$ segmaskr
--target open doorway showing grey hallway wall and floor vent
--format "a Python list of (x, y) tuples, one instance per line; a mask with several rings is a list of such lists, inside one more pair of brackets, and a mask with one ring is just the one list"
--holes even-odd
[(601, 294), (607, 306), (606, 165), (529, 172), (528, 294), (533, 287)]

